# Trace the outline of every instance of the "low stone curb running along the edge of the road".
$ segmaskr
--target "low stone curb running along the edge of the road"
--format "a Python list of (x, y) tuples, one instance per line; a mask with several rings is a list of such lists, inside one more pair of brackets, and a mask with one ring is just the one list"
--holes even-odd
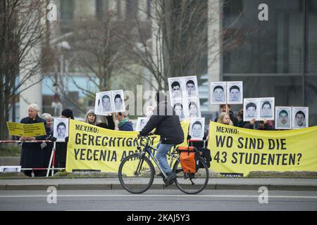
[[(57, 190), (123, 190), (120, 184), (31, 184), (0, 185), (0, 191), (46, 191), (47, 188), (54, 186)], [(137, 186), (137, 184), (136, 184)], [(261, 185), (261, 184), (208, 184), (206, 190), (246, 190), (258, 191), (261, 186), (268, 188), (268, 191), (317, 191), (317, 186), (313, 185)], [(153, 184), (151, 190), (178, 190), (174, 184), (164, 188), (163, 184)]]

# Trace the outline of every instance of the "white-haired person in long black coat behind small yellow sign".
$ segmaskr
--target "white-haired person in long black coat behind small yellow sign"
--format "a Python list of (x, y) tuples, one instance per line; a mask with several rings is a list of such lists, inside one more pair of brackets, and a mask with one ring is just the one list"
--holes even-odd
[[(45, 120), (41, 119), (37, 113), (39, 112), (39, 107), (37, 104), (31, 104), (28, 107), (28, 117), (23, 118), (21, 124), (36, 124), (44, 123), (46, 129)], [(20, 141), (35, 141), (35, 140), (45, 140), (46, 136), (36, 136), (36, 137), (20, 137)], [(42, 150), (41, 143), (23, 143), (21, 150), (20, 165), (21, 168), (43, 168), (44, 167), (44, 150)], [(46, 171), (44, 170), (34, 170), (35, 176), (45, 176)], [(24, 174), (27, 176), (32, 176), (32, 170), (24, 170)]]

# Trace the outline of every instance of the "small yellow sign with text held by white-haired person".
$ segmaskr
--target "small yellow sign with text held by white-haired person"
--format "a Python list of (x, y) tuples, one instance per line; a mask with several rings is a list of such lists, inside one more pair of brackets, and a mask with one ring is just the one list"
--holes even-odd
[(18, 122), (6, 122), (9, 135), (12, 136), (44, 136), (46, 135), (43, 122), (36, 124), (20, 124)]

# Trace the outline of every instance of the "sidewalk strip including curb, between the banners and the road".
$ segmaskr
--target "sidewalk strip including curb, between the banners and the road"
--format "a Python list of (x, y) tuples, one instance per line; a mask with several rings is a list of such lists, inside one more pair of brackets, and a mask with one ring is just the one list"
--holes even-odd
[[(142, 181), (140, 181), (142, 182)], [(0, 191), (45, 190), (49, 186), (57, 190), (120, 190), (123, 189), (117, 178), (100, 179), (2, 179)], [(255, 190), (266, 186), (269, 191), (317, 191), (317, 179), (282, 178), (211, 178), (209, 190)], [(175, 184), (166, 189), (176, 189)], [(164, 189), (161, 178), (155, 178), (151, 189)]]

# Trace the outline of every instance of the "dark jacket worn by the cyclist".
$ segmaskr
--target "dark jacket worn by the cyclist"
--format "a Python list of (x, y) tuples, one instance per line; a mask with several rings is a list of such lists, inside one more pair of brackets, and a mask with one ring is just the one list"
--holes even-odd
[(147, 122), (139, 134), (145, 136), (154, 128), (156, 128), (155, 134), (161, 136), (161, 143), (179, 144), (184, 141), (184, 132), (180, 125), (180, 118), (166, 101), (156, 106), (149, 122)]

